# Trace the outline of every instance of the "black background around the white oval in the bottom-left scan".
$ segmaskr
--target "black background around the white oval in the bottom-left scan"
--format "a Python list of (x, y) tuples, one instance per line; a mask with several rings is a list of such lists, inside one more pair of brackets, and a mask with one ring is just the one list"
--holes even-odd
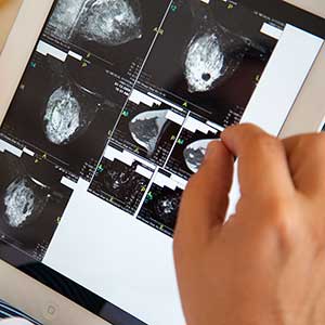
[[(42, 214), (12, 227), (4, 216), (6, 187), (20, 176), (28, 176), (50, 187), (51, 198)], [(0, 153), (0, 233), (4, 239), (36, 259), (41, 260), (58, 225), (73, 191), (61, 184), (62, 173), (43, 160), (23, 155), (18, 158), (10, 153)], [(3, 238), (2, 238), (3, 239)]]

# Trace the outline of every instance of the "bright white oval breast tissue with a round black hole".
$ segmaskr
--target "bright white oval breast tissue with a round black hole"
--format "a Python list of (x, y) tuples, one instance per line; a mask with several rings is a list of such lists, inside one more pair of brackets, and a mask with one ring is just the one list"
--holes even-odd
[(224, 55), (217, 35), (205, 34), (190, 42), (185, 78), (190, 92), (205, 92), (222, 76)]

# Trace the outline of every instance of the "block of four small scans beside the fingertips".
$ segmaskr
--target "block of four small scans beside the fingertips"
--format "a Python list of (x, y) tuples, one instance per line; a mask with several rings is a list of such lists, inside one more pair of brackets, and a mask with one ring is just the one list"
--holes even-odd
[(221, 130), (134, 89), (89, 192), (172, 236), (187, 180)]

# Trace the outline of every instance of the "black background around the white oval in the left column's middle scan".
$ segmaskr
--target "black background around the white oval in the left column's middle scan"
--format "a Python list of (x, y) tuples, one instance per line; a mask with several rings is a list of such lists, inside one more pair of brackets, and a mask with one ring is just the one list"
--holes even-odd
[[(49, 159), (79, 174), (83, 164), (99, 159), (104, 151), (108, 132), (112, 131), (127, 98), (116, 92), (118, 79), (88, 65), (81, 68), (79, 61), (69, 58), (66, 63), (35, 53), (31, 60), (35, 68), (26, 70), (1, 131), (22, 142), (34, 152), (47, 153)], [(30, 64), (31, 64), (30, 63)], [(43, 132), (43, 114), (50, 95), (55, 89), (67, 82), (79, 83), (93, 93), (78, 98), (80, 105), (95, 118), (78, 139), (66, 145), (51, 143)]]

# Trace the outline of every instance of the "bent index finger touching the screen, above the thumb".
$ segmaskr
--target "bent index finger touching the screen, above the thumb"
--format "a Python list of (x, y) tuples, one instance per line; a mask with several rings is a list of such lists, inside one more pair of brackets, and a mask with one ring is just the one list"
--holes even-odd
[(242, 196), (287, 196), (295, 190), (282, 142), (252, 125), (226, 129), (221, 139), (238, 157)]

